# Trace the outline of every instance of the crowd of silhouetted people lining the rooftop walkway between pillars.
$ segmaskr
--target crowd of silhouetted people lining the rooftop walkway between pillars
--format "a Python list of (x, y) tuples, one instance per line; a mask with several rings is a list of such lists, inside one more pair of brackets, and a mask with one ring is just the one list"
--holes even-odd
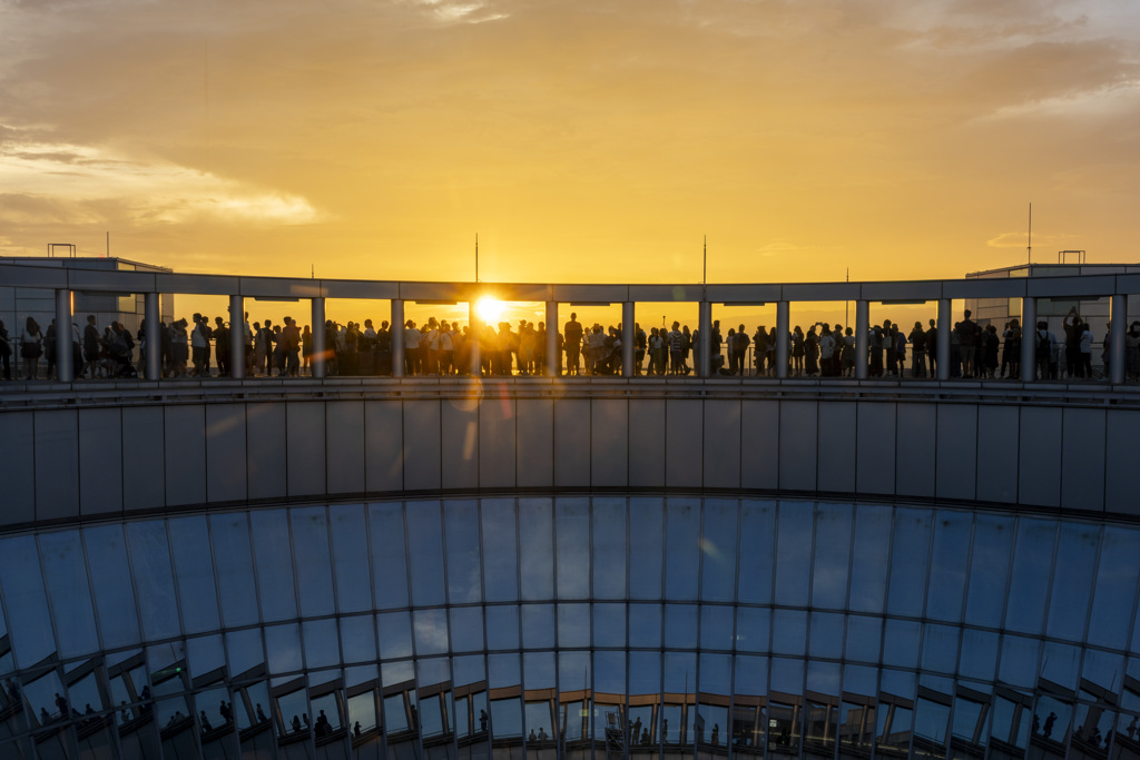
[[(163, 377), (227, 377), (233, 374), (231, 342), (243, 343), (246, 377), (301, 377), (311, 375), (314, 333), (309, 325), (298, 325), (292, 317), (279, 324), (266, 319), (236, 328), (222, 317), (195, 313), (171, 324), (160, 322), (158, 345)], [(1109, 337), (1097, 338), (1092, 326), (1074, 308), (1056, 334), (1045, 320), (1026, 332), (1017, 319), (999, 330), (996, 325), (980, 325), (963, 313), (950, 328), (950, 376), (961, 378), (1019, 378), (1021, 344), (1034, 343), (1034, 375), (1040, 379), (1094, 379), (1107, 375)], [(88, 316), (82, 327), (71, 326), (74, 375), (79, 379), (133, 378), (144, 374), (148, 326), (142, 320), (132, 334), (117, 321), (98, 325)], [(404, 344), (405, 376), (545, 375), (554, 362), (555, 374), (621, 375), (624, 332), (620, 324), (585, 326), (577, 313), (554, 336), (554, 354), (547, 356), (547, 326), (520, 320), (516, 326), (502, 321), (473, 329), (456, 321), (430, 318), (418, 326), (408, 319), (401, 327), (386, 320), (378, 327), (366, 319), (364, 325), (328, 320), (324, 332), (326, 374), (369, 376), (393, 374), (393, 337), (400, 330)], [(915, 321), (910, 329), (887, 319), (866, 334), (868, 368), (871, 377), (935, 377), (937, 374), (938, 327)], [(43, 330), (28, 317), (14, 336), (0, 321), (0, 370), (11, 379), (11, 362), (22, 379), (56, 376), (58, 330), (55, 321)], [(705, 337), (699, 329), (674, 321), (671, 327), (644, 329), (634, 325), (634, 375), (686, 376), (695, 373)], [(710, 330), (711, 371), (715, 375), (774, 377), (780, 341), (784, 342), (789, 377), (850, 377), (855, 374), (856, 336), (854, 328), (839, 324), (815, 322), (807, 330), (800, 325), (780, 336), (775, 327), (744, 325), (722, 329), (714, 321)], [(478, 370), (472, 366), (475, 346)], [(1125, 376), (1140, 379), (1140, 321), (1125, 333)], [(42, 367), (41, 367), (42, 365)]]

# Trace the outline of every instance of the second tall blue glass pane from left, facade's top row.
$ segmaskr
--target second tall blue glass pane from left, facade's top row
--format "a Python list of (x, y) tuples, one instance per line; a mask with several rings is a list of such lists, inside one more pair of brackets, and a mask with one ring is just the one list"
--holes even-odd
[(79, 531), (41, 534), (40, 556), (59, 637), (59, 654), (70, 657), (97, 652), (95, 610)]

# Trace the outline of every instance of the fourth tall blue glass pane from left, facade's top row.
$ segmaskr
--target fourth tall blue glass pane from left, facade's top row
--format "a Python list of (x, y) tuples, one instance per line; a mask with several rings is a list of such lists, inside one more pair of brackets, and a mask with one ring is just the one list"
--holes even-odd
[[(174, 575), (166, 545), (166, 523), (148, 521), (127, 525), (127, 542), (135, 574), (142, 636), (148, 640), (178, 636)], [(287, 545), (286, 545), (287, 546)]]

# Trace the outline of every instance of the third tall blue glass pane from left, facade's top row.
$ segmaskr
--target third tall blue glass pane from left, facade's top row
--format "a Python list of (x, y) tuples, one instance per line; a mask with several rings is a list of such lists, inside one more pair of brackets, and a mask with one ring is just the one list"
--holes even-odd
[[(139, 622), (135, 612), (135, 586), (127, 562), (122, 525), (83, 529), (95, 608), (99, 615), (103, 646), (116, 648), (139, 643)], [(0, 557), (7, 555), (0, 549)], [(7, 574), (5, 575), (8, 577)], [(7, 593), (7, 589), (5, 589)], [(14, 614), (9, 607), (9, 614)]]

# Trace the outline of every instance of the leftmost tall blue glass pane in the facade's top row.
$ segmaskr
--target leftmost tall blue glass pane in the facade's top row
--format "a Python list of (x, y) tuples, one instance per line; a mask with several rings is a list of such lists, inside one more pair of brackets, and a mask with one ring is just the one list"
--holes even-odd
[(16, 661), (26, 668), (56, 651), (34, 537), (0, 541), (0, 578)]

